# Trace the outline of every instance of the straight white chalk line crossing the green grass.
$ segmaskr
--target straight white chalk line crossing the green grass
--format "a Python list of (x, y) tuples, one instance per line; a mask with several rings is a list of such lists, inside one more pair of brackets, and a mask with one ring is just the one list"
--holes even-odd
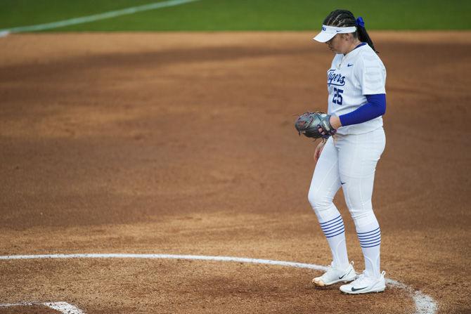
[(6, 36), (11, 33), (36, 32), (39, 30), (51, 30), (53, 28), (58, 28), (58, 27), (65, 27), (69, 25), (95, 22), (97, 20), (105, 20), (107, 18), (116, 18), (117, 16), (121, 16), (121, 15), (128, 15), (128, 14), (134, 14), (134, 13), (138, 13), (142, 11), (155, 10), (157, 8), (179, 6), (181, 4), (188, 4), (189, 2), (195, 2), (195, 1), (199, 1), (199, 0), (170, 0), (170, 1), (154, 2), (152, 4), (144, 4), (143, 6), (132, 6), (130, 8), (123, 8), (121, 10), (108, 11), (105, 13), (99, 13), (99, 14), (94, 14), (94, 15), (87, 15), (87, 16), (82, 16), (80, 18), (70, 18), (68, 20), (61, 20), (58, 22), (11, 27), (11, 28), (6, 28), (4, 30), (0, 30), (0, 37)]

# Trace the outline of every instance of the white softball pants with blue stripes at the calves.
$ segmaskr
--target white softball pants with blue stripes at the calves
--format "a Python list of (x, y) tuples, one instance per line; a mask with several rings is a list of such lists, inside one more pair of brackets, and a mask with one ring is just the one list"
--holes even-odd
[[(342, 216), (333, 199), (342, 187), (365, 256), (366, 270), (379, 275), (380, 228), (371, 197), (375, 169), (385, 149), (382, 128), (357, 135), (331, 136), (316, 164), (308, 199), (314, 209), (337, 266), (348, 265)], [(370, 253), (370, 254), (369, 254)]]

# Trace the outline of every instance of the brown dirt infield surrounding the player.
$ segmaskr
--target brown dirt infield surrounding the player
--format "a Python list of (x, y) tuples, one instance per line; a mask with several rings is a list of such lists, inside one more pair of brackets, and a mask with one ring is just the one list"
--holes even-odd
[[(387, 277), (470, 313), (471, 33), (372, 32), (387, 67), (373, 205)], [(325, 265), (307, 202), (332, 55), (308, 32), (0, 38), (0, 255), (158, 253)], [(363, 268), (342, 193), (349, 257)], [(86, 313), (414, 313), (319, 272), (216, 261), (0, 260), (0, 303)], [(29, 311), (29, 312), (28, 312)], [(1, 308), (0, 313), (56, 313)]]

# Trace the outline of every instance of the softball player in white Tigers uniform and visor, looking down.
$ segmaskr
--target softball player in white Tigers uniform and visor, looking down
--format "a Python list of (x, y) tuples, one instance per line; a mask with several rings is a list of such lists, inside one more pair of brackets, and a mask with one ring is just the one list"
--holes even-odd
[[(314, 284), (340, 287), (347, 294), (382, 292), (385, 272), (380, 272), (380, 225), (373, 213), (371, 195), (375, 168), (385, 148), (382, 115), (386, 110), (386, 70), (362, 18), (336, 10), (325, 18), (316, 41), (335, 53), (327, 71), (328, 114), (337, 133), (320, 143), (314, 153), (316, 169), (309, 188), (309, 203), (332, 251), (327, 272)], [(320, 129), (319, 131), (322, 131)], [(349, 263), (342, 216), (333, 204), (342, 188), (359, 238), (365, 270), (359, 276)]]

